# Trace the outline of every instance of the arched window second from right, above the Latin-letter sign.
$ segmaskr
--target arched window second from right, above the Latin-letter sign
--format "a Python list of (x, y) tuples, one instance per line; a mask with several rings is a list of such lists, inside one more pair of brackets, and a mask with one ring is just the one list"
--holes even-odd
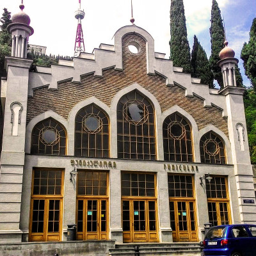
[(164, 160), (193, 162), (191, 127), (178, 113), (163, 122)]

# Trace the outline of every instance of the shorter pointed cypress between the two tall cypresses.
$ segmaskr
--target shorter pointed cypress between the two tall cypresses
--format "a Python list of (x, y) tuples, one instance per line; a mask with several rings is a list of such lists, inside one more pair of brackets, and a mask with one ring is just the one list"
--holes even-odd
[(212, 72), (204, 48), (194, 36), (194, 45), (191, 52), (192, 75), (201, 79), (202, 84), (209, 84), (210, 88), (214, 88)]

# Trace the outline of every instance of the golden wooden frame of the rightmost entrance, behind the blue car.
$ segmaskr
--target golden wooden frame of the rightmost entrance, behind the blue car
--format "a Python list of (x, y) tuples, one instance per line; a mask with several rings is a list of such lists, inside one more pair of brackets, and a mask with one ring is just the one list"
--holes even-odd
[[(214, 178), (225, 178), (225, 186), (226, 186), (226, 193), (227, 193), (227, 198), (207, 198), (207, 212), (209, 216), (209, 209), (208, 209), (208, 203), (215, 203), (216, 204), (216, 216), (217, 216), (217, 222), (218, 225), (221, 225), (221, 219), (220, 219), (220, 203), (226, 203), (227, 204), (227, 211), (228, 211), (228, 224), (232, 224), (232, 214), (231, 214), (231, 209), (230, 209), (230, 195), (228, 191), (228, 176), (224, 175), (211, 175), (211, 177)], [(211, 184), (211, 183), (210, 183)], [(207, 195), (207, 190), (205, 188), (205, 192)]]

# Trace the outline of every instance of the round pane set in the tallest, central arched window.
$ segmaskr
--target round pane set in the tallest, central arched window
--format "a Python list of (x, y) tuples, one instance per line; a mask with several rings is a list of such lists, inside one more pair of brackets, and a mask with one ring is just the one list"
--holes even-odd
[(134, 125), (144, 124), (148, 119), (147, 106), (140, 100), (129, 100), (124, 104), (124, 117)]

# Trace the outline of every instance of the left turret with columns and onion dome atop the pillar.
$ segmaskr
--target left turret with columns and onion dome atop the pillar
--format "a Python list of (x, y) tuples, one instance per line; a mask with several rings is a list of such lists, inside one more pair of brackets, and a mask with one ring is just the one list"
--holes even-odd
[(12, 57), (27, 58), (28, 38), (33, 35), (34, 29), (29, 26), (29, 15), (23, 12), (24, 4), (20, 4), (20, 12), (12, 17), (12, 24), (8, 30), (12, 33)]

